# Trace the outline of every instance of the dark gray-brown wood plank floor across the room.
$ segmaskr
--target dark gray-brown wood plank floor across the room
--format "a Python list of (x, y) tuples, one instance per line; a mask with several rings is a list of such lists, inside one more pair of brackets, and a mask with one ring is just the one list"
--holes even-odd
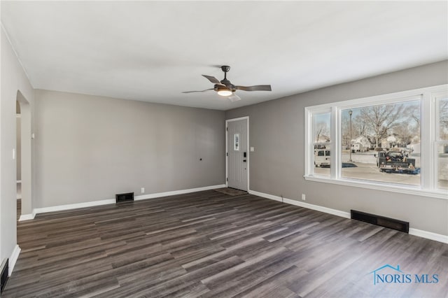
[[(448, 297), (447, 244), (249, 194), (41, 214), (18, 243), (4, 297)], [(385, 264), (439, 281), (374, 285)]]

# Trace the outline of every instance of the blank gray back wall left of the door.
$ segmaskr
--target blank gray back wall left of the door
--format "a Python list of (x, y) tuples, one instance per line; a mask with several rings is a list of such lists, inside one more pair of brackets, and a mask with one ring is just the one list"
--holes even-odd
[(225, 183), (223, 111), (46, 90), (35, 97), (36, 208)]

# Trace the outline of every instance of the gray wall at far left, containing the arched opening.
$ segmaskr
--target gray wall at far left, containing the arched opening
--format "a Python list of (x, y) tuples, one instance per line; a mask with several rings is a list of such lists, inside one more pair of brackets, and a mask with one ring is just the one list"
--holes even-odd
[[(34, 90), (20, 66), (13, 48), (6, 37), (3, 27), (1, 31), (1, 100), (0, 100), (0, 260), (11, 257), (17, 245), (17, 174), (16, 161), (13, 159), (13, 149), (16, 142), (16, 101), (27, 105), (27, 128), (31, 129)], [(23, 111), (22, 111), (23, 113)], [(23, 116), (23, 115), (22, 115)], [(22, 128), (23, 118), (22, 118)], [(23, 130), (22, 130), (23, 131)], [(22, 134), (23, 136), (23, 134)], [(22, 142), (22, 148), (23, 148)], [(29, 154), (28, 154), (29, 153)], [(22, 164), (27, 163), (26, 171), (22, 171), (22, 181), (25, 178), (27, 195), (31, 196), (31, 145), (27, 144), (27, 155), (22, 154)], [(22, 187), (22, 195), (24, 188)], [(31, 206), (29, 197), (25, 204)], [(13, 262), (15, 260), (10, 260)], [(12, 264), (10, 264), (11, 266)]]

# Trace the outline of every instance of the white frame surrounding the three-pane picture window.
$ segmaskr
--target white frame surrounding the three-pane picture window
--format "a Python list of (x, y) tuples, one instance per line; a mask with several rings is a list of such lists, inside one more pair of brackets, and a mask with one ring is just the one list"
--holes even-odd
[[(349, 185), (354, 187), (365, 187), (374, 190), (386, 190), (389, 192), (400, 192), (416, 194), (426, 197), (448, 199), (447, 190), (437, 189), (437, 143), (436, 139), (438, 118), (436, 118), (436, 104), (441, 96), (448, 93), (448, 84), (433, 87), (419, 88), (390, 94), (382, 94), (374, 97), (350, 99), (318, 106), (304, 108), (304, 178), (305, 180)], [(359, 108), (363, 106), (374, 106), (377, 104), (396, 104), (402, 101), (419, 99), (420, 111), (420, 134), (421, 134), (421, 176), (420, 185), (406, 185), (399, 183), (387, 183), (374, 180), (358, 180), (342, 177), (341, 148), (342, 148), (342, 110), (348, 108)], [(313, 115), (328, 113), (331, 111), (330, 120), (330, 176), (319, 176), (314, 173), (314, 135)]]

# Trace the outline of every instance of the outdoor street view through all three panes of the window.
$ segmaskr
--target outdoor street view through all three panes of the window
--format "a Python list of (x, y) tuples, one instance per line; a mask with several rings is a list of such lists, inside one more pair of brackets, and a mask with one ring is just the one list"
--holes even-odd
[[(421, 99), (343, 109), (342, 178), (420, 185), (420, 110)], [(437, 111), (437, 188), (448, 188), (448, 99)], [(330, 113), (316, 114), (313, 125), (314, 173), (330, 176)]]

